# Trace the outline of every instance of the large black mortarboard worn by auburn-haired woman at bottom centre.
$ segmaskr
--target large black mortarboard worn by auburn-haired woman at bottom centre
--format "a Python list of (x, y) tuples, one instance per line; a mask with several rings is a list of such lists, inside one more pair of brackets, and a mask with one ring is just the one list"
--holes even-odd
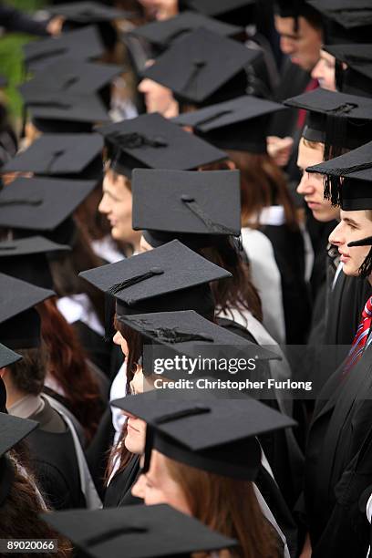
[(145, 471), (150, 450), (158, 449), (197, 469), (255, 480), (261, 464), (255, 437), (295, 424), (292, 418), (252, 398), (216, 398), (213, 390), (185, 389), (177, 390), (176, 399), (170, 391), (155, 389), (113, 402), (147, 422)]

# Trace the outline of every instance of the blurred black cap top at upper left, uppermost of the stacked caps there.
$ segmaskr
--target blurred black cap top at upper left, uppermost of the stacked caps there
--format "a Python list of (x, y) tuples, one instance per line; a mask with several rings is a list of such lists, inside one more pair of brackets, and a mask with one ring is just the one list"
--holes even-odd
[(27, 43), (23, 51), (27, 68), (35, 72), (43, 69), (50, 62), (59, 64), (62, 57), (74, 57), (76, 60), (101, 57), (104, 48), (98, 28), (87, 26), (67, 31), (61, 36)]

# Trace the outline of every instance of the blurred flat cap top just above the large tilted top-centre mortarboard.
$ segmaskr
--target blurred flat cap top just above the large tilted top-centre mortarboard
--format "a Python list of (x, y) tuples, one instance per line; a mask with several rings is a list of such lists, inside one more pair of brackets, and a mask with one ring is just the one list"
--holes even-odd
[(222, 36), (236, 36), (243, 32), (243, 27), (231, 26), (195, 12), (182, 12), (171, 19), (153, 21), (145, 26), (136, 27), (131, 33), (148, 40), (155, 47), (164, 49), (200, 28), (210, 29)]

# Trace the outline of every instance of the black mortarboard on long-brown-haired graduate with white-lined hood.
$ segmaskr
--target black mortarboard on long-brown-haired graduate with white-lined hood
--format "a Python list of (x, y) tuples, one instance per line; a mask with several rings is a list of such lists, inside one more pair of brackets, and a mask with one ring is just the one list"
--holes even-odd
[(266, 136), (271, 116), (283, 105), (244, 95), (173, 119), (191, 126), (200, 138), (222, 150), (266, 153)]

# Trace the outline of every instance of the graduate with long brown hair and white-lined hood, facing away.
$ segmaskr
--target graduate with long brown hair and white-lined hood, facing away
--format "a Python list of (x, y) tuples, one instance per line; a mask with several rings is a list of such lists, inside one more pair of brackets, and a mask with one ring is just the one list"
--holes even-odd
[(267, 153), (270, 116), (280, 109), (245, 96), (175, 121), (226, 150), (241, 171), (243, 248), (262, 298), (263, 324), (277, 341), (301, 344), (309, 316), (304, 241), (284, 174)]

